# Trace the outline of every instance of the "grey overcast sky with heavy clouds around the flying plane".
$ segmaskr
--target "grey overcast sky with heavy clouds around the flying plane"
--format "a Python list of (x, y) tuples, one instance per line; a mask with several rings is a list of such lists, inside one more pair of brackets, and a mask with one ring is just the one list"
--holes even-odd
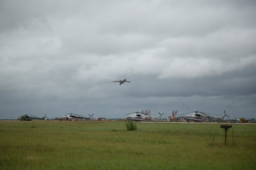
[(0, 20), (0, 118), (256, 118), (255, 0), (1, 0)]

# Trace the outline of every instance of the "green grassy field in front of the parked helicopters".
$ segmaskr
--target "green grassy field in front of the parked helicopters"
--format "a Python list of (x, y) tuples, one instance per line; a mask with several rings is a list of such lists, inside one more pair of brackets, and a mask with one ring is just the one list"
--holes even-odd
[(256, 169), (256, 125), (1, 121), (0, 169)]

